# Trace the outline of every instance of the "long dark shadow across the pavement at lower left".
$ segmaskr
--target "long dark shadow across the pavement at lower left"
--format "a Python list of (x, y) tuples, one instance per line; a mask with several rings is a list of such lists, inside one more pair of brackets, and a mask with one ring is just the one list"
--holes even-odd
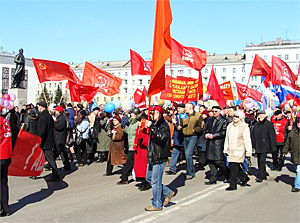
[(21, 198), (17, 203), (10, 205), (11, 214), (19, 211), (28, 204), (42, 201), (53, 194), (54, 191), (62, 190), (67, 188), (69, 185), (65, 181), (60, 182), (47, 182), (47, 189), (41, 189), (38, 192), (27, 195)]

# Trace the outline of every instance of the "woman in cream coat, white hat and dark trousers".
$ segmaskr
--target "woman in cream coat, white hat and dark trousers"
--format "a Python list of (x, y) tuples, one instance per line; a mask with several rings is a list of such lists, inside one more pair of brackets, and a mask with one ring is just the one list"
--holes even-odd
[(233, 121), (226, 130), (223, 153), (227, 154), (230, 170), (230, 186), (226, 188), (226, 191), (237, 189), (238, 178), (241, 180), (241, 186), (246, 186), (250, 180), (241, 167), (245, 157), (252, 156), (250, 129), (244, 120), (244, 112), (235, 111)]

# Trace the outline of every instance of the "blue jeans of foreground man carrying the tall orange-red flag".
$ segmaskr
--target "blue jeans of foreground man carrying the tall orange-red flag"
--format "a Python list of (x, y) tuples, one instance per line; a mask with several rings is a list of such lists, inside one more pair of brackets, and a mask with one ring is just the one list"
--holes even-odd
[(147, 165), (146, 180), (152, 186), (152, 206), (155, 208), (162, 208), (161, 195), (164, 198), (168, 197), (172, 190), (162, 184), (162, 175), (165, 169), (166, 162)]

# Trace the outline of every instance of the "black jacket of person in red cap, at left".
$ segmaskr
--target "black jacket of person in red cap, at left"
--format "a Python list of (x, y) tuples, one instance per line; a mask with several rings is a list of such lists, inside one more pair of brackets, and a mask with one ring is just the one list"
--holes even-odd
[(67, 120), (63, 114), (59, 114), (54, 122), (54, 140), (56, 147), (66, 144), (67, 140)]

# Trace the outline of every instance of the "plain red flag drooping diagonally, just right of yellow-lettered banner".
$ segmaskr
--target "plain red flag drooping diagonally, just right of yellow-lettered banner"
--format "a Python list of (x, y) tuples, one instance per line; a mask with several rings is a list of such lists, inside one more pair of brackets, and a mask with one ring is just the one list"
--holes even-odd
[(215, 101), (219, 103), (221, 107), (226, 106), (226, 101), (223, 92), (219, 86), (213, 66), (211, 68), (210, 78), (207, 85), (207, 92), (209, 92), (209, 94), (213, 97)]

